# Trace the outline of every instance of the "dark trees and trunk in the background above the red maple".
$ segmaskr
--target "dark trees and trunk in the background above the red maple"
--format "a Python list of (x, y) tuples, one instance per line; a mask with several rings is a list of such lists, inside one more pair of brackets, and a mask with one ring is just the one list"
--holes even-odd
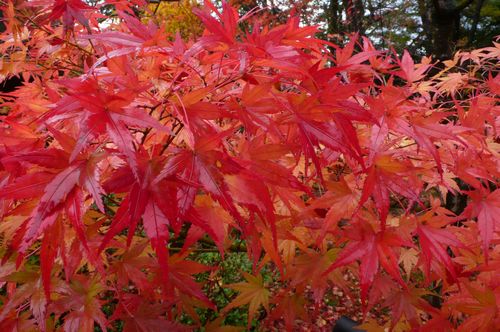
[(262, 8), (268, 22), (290, 10), (306, 25), (319, 25), (322, 38), (342, 43), (353, 32), (377, 48), (407, 49), (414, 57), (446, 60), (459, 49), (489, 46), (500, 34), (498, 0), (233, 0), (243, 12)]

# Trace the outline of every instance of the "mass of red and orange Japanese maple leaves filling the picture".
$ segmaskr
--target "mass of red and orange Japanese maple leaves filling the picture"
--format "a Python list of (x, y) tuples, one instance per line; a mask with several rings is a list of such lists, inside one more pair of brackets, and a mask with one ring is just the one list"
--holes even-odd
[(1, 331), (327, 330), (327, 300), (370, 331), (499, 326), (500, 44), (436, 65), (225, 3), (193, 40), (142, 0), (1, 3), (25, 81), (1, 96)]

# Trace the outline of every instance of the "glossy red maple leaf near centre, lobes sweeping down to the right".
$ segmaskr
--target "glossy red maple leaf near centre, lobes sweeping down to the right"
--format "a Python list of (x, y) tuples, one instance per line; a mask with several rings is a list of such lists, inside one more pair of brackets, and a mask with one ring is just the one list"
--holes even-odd
[[(244, 236), (252, 229), (252, 225), (246, 225), (237, 204), (246, 207), (251, 212), (259, 213), (268, 223), (272, 232), (273, 245), (277, 248), (277, 236), (275, 226), (275, 216), (268, 188), (265, 185), (252, 183), (252, 179), (259, 174), (255, 174), (252, 169), (245, 170), (244, 161), (231, 158), (219, 151), (222, 139), (228, 135), (228, 131), (220, 132), (214, 136), (198, 137), (195, 150), (184, 150), (169, 158), (155, 183), (166, 177), (174, 176), (176, 172), (182, 175), (181, 180), (186, 182), (185, 189), (178, 194), (179, 211), (186, 211), (186, 215), (197, 226), (204, 228), (209, 234), (225, 234), (223, 224), (211, 222), (200, 222), (203, 220), (203, 213), (196, 210), (189, 212), (189, 205), (194, 199), (194, 190), (189, 183), (197, 183), (206, 193), (208, 193), (220, 206), (226, 210), (241, 228)], [(217, 167), (220, 163), (222, 167)], [(193, 195), (193, 196), (189, 196)], [(201, 218), (199, 217), (201, 216)], [(221, 247), (222, 239), (215, 236), (216, 243)], [(277, 262), (279, 265), (280, 263)]]

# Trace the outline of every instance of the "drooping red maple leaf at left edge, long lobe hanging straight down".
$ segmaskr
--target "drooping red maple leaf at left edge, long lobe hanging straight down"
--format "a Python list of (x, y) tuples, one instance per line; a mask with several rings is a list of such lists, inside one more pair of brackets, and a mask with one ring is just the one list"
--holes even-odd
[[(59, 139), (65, 135), (56, 131)], [(66, 144), (71, 147), (71, 141)], [(81, 188), (87, 189), (96, 199), (97, 205), (102, 207), (101, 190), (95, 176), (96, 165), (99, 158), (90, 157), (89, 160), (78, 159), (73, 163), (68, 162), (69, 153), (61, 149), (44, 149), (8, 156), (2, 159), (4, 164), (30, 163), (57, 169), (59, 172), (38, 172), (25, 175), (21, 181), (7, 185), (0, 197), (9, 199), (37, 198), (38, 204), (25, 221), (23, 229), (18, 232), (18, 241), (13, 241), (12, 246), (25, 254), (33, 242), (43, 234), (40, 251), (42, 282), (46, 298), (50, 298), (51, 271), (59, 251), (64, 251), (64, 233), (60, 213), (65, 211), (76, 230), (83, 247), (90, 260), (99, 266), (93, 253), (87, 245), (82, 223), (82, 210), (84, 201)], [(30, 182), (32, 183), (26, 183)], [(89, 185), (93, 184), (93, 185)], [(102, 208), (104, 209), (104, 208)]]

